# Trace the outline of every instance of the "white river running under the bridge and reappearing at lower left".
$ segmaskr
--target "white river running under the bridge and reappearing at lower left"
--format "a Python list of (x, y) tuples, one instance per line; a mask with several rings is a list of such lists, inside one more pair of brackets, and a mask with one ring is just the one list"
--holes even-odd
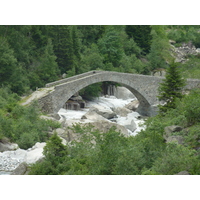
[[(127, 95), (127, 91), (126, 91), (125, 96), (126, 95)], [(86, 114), (92, 106), (100, 105), (108, 110), (109, 109), (113, 110), (114, 108), (123, 108), (125, 107), (125, 105), (135, 100), (135, 97), (133, 96), (129, 97), (129, 95), (127, 95), (127, 97), (128, 97), (127, 99), (122, 99), (122, 98), (117, 98), (116, 96), (108, 96), (108, 95), (102, 96), (102, 97), (95, 98), (93, 101), (87, 102), (86, 107), (81, 110), (66, 110), (66, 109), (61, 108), (58, 114), (60, 116), (65, 117), (66, 121), (71, 121), (72, 123), (73, 122), (83, 123), (83, 121), (87, 122), (87, 120), (81, 120), (82, 116)], [(143, 127), (140, 126), (140, 124), (143, 124), (144, 120), (139, 118), (139, 116), (140, 115), (137, 112), (132, 111), (128, 113), (127, 116), (125, 117), (117, 115), (115, 118), (111, 119), (111, 121), (112, 122), (114, 121), (115, 123), (124, 126), (127, 120), (130, 120), (130, 119), (133, 120), (134, 124), (136, 125), (136, 129), (134, 131), (131, 131), (129, 129), (127, 130), (128, 130), (129, 135), (136, 135), (138, 132), (140, 132), (142, 129), (145, 128), (144, 126)], [(6, 166), (8, 166), (9, 168), (11, 165), (12, 167), (13, 165), (18, 166), (19, 163), (30, 160), (30, 158), (32, 159), (33, 154), (35, 155), (38, 154), (38, 151), (39, 151), (39, 154), (42, 155), (44, 145), (45, 143), (36, 143), (35, 146), (33, 146), (32, 148), (28, 150), (17, 149), (16, 151), (5, 151), (5, 152), (0, 153), (0, 160), (1, 160), (0, 175), (9, 175), (11, 173), (11, 172), (4, 171)], [(30, 155), (30, 158), (29, 158), (29, 155)], [(13, 164), (13, 163), (17, 163), (17, 164)]]

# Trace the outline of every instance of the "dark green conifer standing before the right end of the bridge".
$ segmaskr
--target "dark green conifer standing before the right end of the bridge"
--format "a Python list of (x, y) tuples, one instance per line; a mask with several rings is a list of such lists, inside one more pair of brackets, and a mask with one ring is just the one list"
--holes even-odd
[(161, 113), (176, 107), (176, 99), (183, 97), (182, 88), (185, 85), (185, 80), (181, 77), (177, 63), (173, 62), (166, 72), (166, 78), (159, 87), (158, 99), (165, 102), (164, 105), (160, 106)]

